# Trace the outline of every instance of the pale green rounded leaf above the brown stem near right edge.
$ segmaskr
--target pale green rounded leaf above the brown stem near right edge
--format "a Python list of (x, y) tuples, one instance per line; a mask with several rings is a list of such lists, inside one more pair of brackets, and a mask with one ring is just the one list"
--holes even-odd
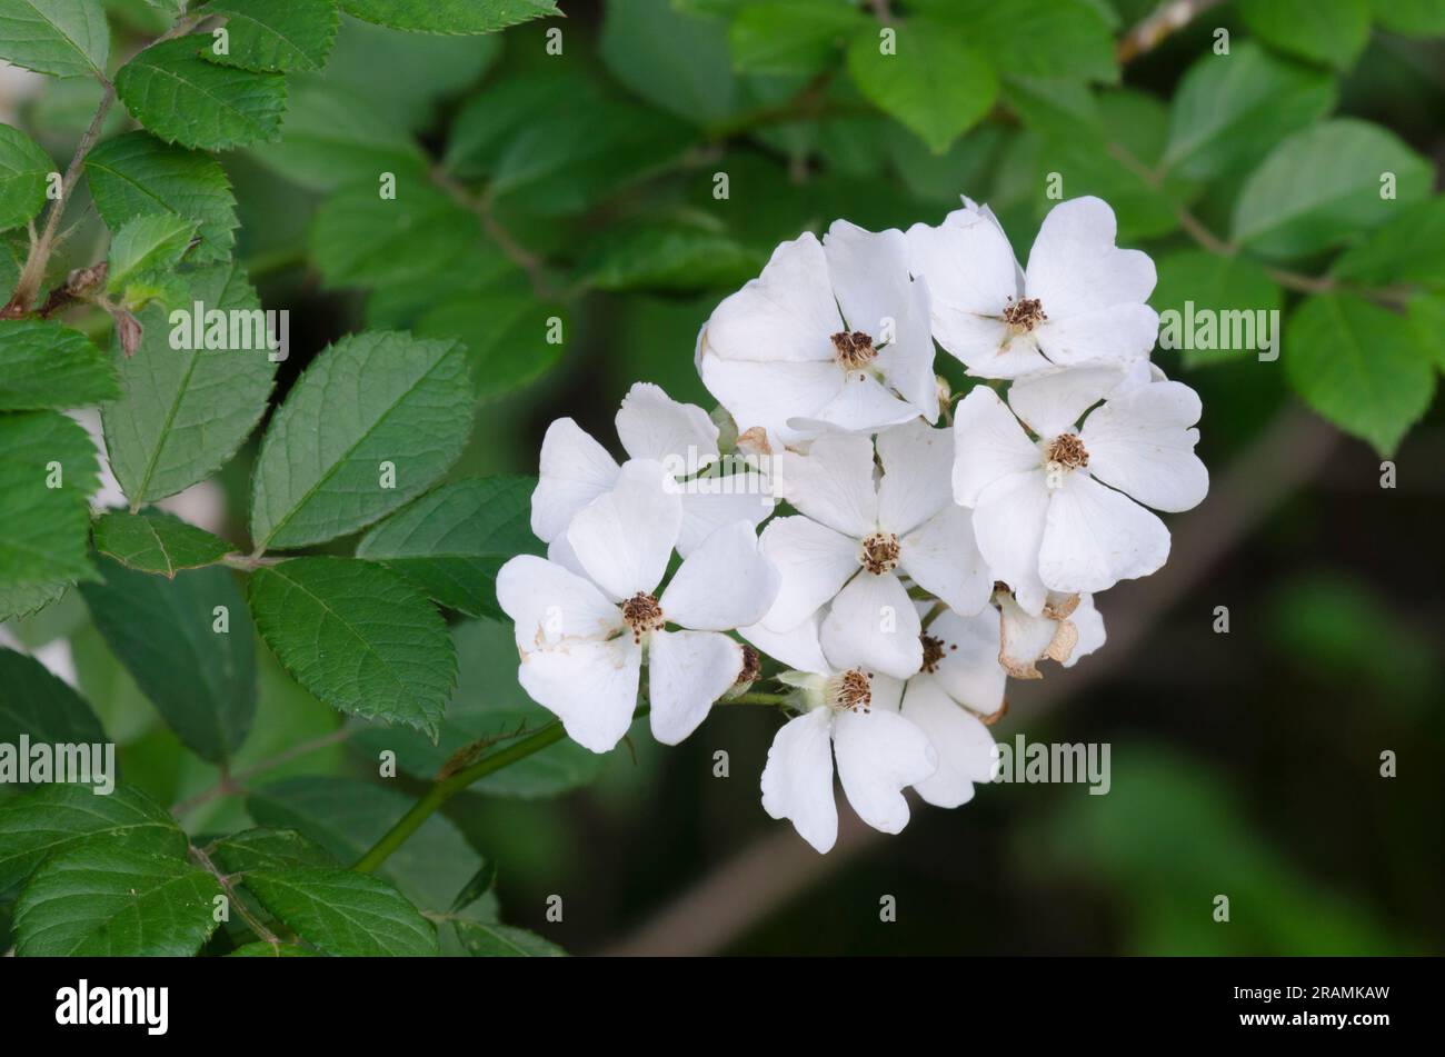
[[(1384, 176), (1394, 198), (1383, 198)], [(1264, 257), (1302, 257), (1389, 219), (1429, 195), (1429, 162), (1379, 126), (1324, 121), (1282, 142), (1246, 180), (1231, 238)]]

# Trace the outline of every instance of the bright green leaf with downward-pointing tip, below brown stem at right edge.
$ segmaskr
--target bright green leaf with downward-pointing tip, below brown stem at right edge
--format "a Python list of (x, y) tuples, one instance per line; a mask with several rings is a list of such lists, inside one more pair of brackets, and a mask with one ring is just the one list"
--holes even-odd
[(1435, 390), (1405, 318), (1350, 295), (1308, 297), (1289, 318), (1283, 360), (1305, 403), (1386, 458)]

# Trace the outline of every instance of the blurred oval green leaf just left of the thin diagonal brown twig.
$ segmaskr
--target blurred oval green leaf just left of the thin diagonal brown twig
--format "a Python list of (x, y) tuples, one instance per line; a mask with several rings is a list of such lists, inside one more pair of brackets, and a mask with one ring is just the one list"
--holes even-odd
[(394, 199), (373, 175), (327, 196), (309, 244), (331, 286), (381, 286), (445, 270), (480, 234), (477, 217), (420, 173), (397, 173)]

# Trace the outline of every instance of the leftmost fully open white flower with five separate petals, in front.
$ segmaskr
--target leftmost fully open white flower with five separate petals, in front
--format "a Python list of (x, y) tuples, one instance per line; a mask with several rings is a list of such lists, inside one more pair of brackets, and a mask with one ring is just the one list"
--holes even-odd
[(662, 464), (633, 459), (566, 528), (585, 575), (532, 554), (497, 573), (497, 602), (516, 621), (517, 680), (594, 752), (631, 725), (644, 653), (653, 736), (675, 745), (696, 729), (744, 669), (743, 647), (721, 632), (760, 619), (777, 592), (751, 526), (734, 521), (657, 596), (682, 518)]

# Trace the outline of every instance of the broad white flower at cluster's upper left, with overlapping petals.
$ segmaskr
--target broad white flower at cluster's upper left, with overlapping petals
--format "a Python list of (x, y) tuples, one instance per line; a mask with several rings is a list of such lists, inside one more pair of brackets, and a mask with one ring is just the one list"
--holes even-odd
[(835, 221), (773, 251), (698, 335), (702, 381), (740, 430), (775, 449), (825, 429), (873, 432), (938, 417), (928, 287), (902, 231)]

